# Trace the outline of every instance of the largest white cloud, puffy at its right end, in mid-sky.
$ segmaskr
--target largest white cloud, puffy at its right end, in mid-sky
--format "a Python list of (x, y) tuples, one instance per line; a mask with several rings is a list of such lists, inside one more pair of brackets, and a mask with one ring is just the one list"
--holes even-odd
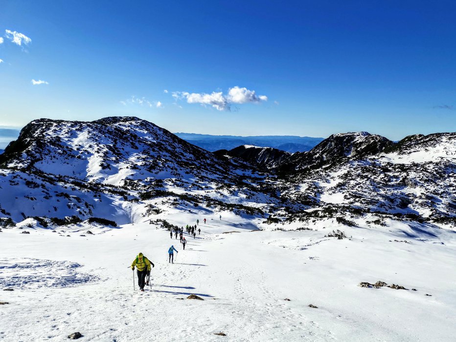
[(233, 87), (228, 89), (228, 94), (223, 94), (222, 91), (213, 91), (210, 94), (206, 93), (189, 93), (187, 91), (173, 91), (172, 96), (175, 100), (185, 99), (187, 103), (200, 103), (209, 105), (218, 111), (230, 111), (231, 104), (243, 103), (258, 103), (267, 101), (266, 95), (257, 95), (254, 90), (247, 88)]

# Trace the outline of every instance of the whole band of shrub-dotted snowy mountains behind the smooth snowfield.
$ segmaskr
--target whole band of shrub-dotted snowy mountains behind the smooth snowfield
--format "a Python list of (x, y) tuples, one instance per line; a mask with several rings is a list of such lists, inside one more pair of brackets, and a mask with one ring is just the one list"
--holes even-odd
[(127, 223), (201, 206), (275, 226), (370, 215), (447, 227), (456, 217), (455, 156), (455, 133), (397, 143), (346, 133), (308, 152), (240, 146), (210, 153), (135, 117), (40, 119), (0, 155), (0, 210), (14, 221)]

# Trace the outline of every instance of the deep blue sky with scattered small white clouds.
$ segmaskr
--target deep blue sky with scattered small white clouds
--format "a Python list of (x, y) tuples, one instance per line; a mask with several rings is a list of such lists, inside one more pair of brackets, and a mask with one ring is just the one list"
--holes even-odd
[(134, 115), (215, 135), (455, 131), (455, 17), (455, 1), (6, 0), (0, 126)]

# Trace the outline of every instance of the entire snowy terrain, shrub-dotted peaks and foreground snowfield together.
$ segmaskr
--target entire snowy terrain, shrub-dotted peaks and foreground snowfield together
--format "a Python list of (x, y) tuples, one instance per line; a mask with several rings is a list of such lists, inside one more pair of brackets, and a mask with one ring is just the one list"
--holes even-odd
[[(35, 120), (0, 155), (0, 340), (453, 341), (455, 158), (455, 133), (210, 153), (135, 117)], [(185, 249), (167, 230), (195, 224)]]

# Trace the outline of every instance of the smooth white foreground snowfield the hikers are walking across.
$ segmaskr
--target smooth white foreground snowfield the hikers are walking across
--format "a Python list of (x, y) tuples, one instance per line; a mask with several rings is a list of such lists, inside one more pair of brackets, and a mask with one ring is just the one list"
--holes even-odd
[[(75, 331), (81, 341), (454, 341), (454, 231), (393, 220), (251, 231), (259, 221), (227, 213), (204, 225), (203, 214), (166, 217), (178, 226), (200, 220), (185, 251), (148, 221), (3, 229), (0, 288), (14, 291), (0, 292), (9, 302), (0, 306), (0, 341), (65, 341)], [(324, 237), (333, 229), (352, 238)], [(144, 293), (133, 290), (129, 268), (139, 251), (155, 263)], [(27, 273), (11, 273), (14, 265)], [(378, 280), (408, 290), (357, 286)], [(190, 294), (205, 300), (178, 300)]]

